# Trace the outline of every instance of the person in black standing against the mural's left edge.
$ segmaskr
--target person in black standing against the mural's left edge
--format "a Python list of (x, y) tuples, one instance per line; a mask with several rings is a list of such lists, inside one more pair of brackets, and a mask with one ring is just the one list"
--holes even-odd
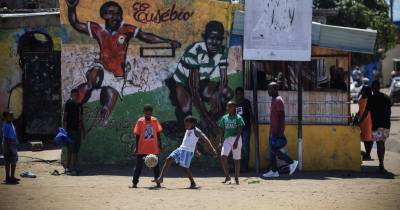
[(64, 127), (66, 128), (72, 143), (67, 145), (67, 164), (65, 173), (77, 175), (76, 163), (81, 146), (83, 127), (83, 107), (78, 102), (78, 89), (71, 90), (71, 98), (65, 103), (64, 107)]

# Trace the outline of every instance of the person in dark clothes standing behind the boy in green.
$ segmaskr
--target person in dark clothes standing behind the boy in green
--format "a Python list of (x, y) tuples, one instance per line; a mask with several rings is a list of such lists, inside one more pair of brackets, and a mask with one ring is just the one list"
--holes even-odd
[(251, 110), (251, 103), (244, 98), (244, 90), (238, 87), (235, 90), (236, 95), (236, 113), (239, 114), (244, 120), (244, 127), (242, 130), (242, 159), (241, 171), (248, 172), (250, 160), (250, 134), (252, 128), (253, 112)]

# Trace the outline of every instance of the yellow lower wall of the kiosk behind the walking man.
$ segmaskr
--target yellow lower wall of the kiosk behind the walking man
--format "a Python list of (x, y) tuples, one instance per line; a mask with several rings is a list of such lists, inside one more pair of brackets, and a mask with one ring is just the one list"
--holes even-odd
[[(290, 156), (298, 159), (297, 125), (288, 125), (285, 135)], [(261, 168), (269, 164), (265, 159), (269, 125), (259, 126)], [(360, 130), (353, 126), (305, 125), (303, 127), (303, 169), (360, 171)], [(254, 166), (254, 141), (251, 142), (250, 164)]]

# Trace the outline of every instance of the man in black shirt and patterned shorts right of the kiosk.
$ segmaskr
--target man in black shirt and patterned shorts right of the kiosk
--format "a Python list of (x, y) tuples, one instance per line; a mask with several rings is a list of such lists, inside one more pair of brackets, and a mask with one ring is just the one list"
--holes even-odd
[(380, 82), (375, 80), (372, 82), (372, 96), (368, 99), (366, 111), (361, 117), (363, 121), (368, 112), (371, 113), (372, 120), (372, 136), (373, 140), (376, 141), (377, 153), (379, 159), (379, 173), (386, 173), (384, 167), (384, 157), (385, 157), (385, 142), (389, 138), (390, 133), (390, 115), (391, 111), (391, 101), (390, 98), (380, 92)]

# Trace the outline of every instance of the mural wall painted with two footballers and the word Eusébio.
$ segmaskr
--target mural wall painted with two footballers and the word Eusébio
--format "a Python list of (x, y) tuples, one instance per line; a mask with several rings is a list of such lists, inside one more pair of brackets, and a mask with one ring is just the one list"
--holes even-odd
[[(163, 155), (181, 143), (189, 114), (219, 143), (215, 122), (242, 85), (242, 49), (227, 47), (232, 10), (212, 0), (61, 1), (63, 101), (79, 89), (83, 161), (130, 161), (147, 103), (164, 127)], [(195, 162), (211, 160), (200, 151)]]

